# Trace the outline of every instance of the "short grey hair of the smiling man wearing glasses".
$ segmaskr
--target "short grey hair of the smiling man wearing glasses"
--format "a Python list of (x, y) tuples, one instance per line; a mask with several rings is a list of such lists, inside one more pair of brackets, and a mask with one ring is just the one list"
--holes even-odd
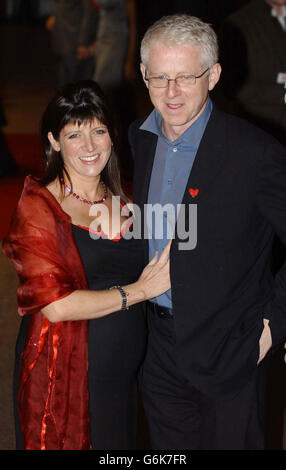
[(218, 61), (217, 36), (208, 23), (186, 14), (163, 16), (146, 31), (141, 42), (141, 61), (148, 65), (149, 50), (153, 43), (180, 46), (191, 44), (202, 49), (202, 65), (212, 67)]

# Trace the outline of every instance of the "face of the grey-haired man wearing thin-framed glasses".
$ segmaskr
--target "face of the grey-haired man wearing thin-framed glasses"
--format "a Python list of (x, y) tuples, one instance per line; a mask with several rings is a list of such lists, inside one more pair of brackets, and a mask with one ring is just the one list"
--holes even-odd
[(154, 88), (145, 80), (146, 76), (164, 75), (176, 78), (179, 75), (200, 75), (206, 67), (201, 60), (198, 46), (184, 44), (151, 44), (147, 69), (141, 64), (141, 72), (149, 90), (150, 99), (163, 118), (163, 132), (169, 140), (181, 135), (205, 109), (208, 92), (219, 80), (221, 67), (215, 64), (209, 72), (196, 79), (195, 85), (179, 87), (174, 81), (167, 88)]

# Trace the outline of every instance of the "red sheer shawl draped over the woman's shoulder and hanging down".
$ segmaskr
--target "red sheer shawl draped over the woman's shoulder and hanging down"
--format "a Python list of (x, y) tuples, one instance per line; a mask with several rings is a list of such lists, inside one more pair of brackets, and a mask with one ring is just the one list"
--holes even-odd
[(88, 322), (50, 323), (41, 313), (86, 289), (86, 277), (69, 216), (31, 176), (3, 251), (19, 277), (18, 312), (31, 315), (18, 390), (24, 449), (89, 449)]

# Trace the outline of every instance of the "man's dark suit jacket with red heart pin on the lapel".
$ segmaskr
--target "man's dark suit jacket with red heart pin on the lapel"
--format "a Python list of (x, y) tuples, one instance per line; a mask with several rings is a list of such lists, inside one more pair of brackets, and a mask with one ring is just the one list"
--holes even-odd
[[(141, 210), (157, 143), (139, 129), (142, 122), (129, 132)], [(199, 190), (195, 198), (190, 188)], [(256, 369), (263, 317), (270, 318), (274, 344), (286, 336), (286, 267), (275, 282), (270, 269), (274, 231), (286, 242), (284, 147), (214, 108), (182, 203), (197, 204), (197, 246), (179, 250), (176, 235), (171, 247), (178, 367), (207, 393), (232, 393)]]

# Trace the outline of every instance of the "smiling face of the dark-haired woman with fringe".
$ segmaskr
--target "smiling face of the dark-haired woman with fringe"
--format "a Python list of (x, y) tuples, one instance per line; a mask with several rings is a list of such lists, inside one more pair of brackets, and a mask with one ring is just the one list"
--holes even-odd
[(51, 132), (49, 141), (54, 150), (61, 152), (65, 167), (74, 175), (99, 176), (111, 154), (111, 139), (107, 127), (96, 118), (81, 125), (69, 123), (55, 140)]

